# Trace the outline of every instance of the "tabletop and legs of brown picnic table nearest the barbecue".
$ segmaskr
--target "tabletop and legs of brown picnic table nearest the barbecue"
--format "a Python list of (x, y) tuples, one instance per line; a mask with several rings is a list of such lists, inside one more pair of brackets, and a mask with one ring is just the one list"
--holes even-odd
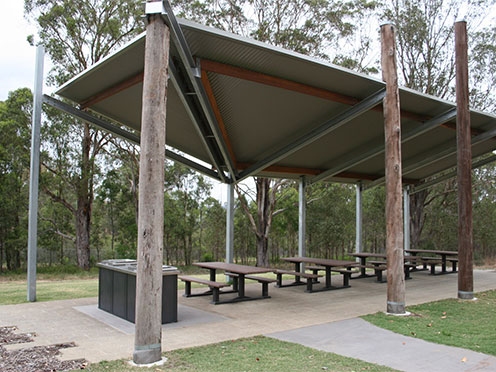
[[(267, 281), (265, 280), (266, 278), (252, 277), (252, 276), (250, 276), (250, 274), (270, 273), (270, 272), (273, 272), (274, 269), (267, 268), (267, 267), (238, 265), (238, 264), (225, 263), (225, 262), (195, 262), (195, 263), (193, 263), (193, 265), (210, 270), (210, 281), (211, 282), (215, 282), (215, 274), (216, 274), (217, 270), (223, 270), (226, 273), (236, 274), (236, 276), (238, 278), (237, 288), (236, 288), (237, 293), (238, 293), (237, 297), (229, 299), (229, 300), (217, 301), (216, 304), (241, 302), (241, 301), (251, 301), (251, 300), (270, 298), (270, 296), (268, 295), (268, 286), (267, 286)], [(246, 279), (247, 275), (249, 276), (249, 279), (259, 280), (259, 282), (262, 284), (264, 284), (264, 282), (265, 282), (265, 285), (263, 286), (262, 296), (260, 296), (260, 297), (248, 297), (245, 295), (245, 279)]]

